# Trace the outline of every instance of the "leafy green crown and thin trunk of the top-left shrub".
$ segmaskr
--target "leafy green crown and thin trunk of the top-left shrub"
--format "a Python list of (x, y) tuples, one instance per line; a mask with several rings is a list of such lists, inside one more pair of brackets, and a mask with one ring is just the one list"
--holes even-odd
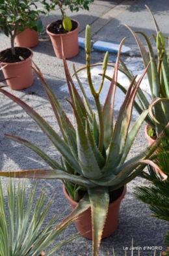
[(15, 54), (14, 39), (18, 33), (27, 27), (38, 33), (43, 29), (40, 14), (45, 14), (45, 11), (38, 8), (36, 3), (40, 1), (0, 0), (0, 27), (7, 37), (10, 36), (13, 55)]

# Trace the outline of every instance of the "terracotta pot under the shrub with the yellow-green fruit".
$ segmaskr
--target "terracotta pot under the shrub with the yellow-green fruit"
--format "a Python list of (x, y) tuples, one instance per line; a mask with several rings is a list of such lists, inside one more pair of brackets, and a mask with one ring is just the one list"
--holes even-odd
[[(77, 22), (74, 20), (74, 22)], [(49, 24), (50, 25), (50, 24)], [(46, 32), (49, 35), (53, 49), (55, 51), (55, 54), (59, 59), (62, 59), (62, 44), (61, 44), (61, 38), (63, 43), (63, 50), (64, 50), (64, 57), (66, 59), (70, 59), (72, 57), (77, 56), (79, 54), (79, 42), (78, 42), (78, 32), (79, 32), (79, 22), (77, 22), (77, 28), (73, 31), (70, 31), (65, 34), (56, 35), (48, 31), (48, 27)]]

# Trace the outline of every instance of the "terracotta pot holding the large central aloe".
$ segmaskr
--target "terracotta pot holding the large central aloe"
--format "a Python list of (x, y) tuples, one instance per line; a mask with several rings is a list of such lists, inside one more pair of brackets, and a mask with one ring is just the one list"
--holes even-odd
[[(124, 185), (122, 195), (120, 195), (120, 197), (117, 200), (109, 204), (109, 210), (108, 210), (107, 218), (105, 221), (105, 227), (103, 229), (103, 234), (101, 238), (108, 237), (116, 231), (118, 227), (120, 202), (125, 196), (126, 191), (127, 191), (127, 186)], [(77, 206), (78, 202), (75, 202), (69, 197), (66, 191), (66, 188), (64, 186), (63, 186), (63, 192), (66, 199), (68, 199), (68, 201), (70, 202), (73, 210)], [(92, 240), (92, 219), (91, 219), (90, 208), (85, 212), (83, 212), (83, 214), (81, 214), (81, 216), (79, 216), (75, 220), (75, 227), (83, 237)]]

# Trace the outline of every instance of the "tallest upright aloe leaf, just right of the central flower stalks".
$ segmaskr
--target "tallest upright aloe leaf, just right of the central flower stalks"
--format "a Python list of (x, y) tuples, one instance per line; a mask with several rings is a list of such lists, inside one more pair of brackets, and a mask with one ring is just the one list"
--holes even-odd
[(105, 104), (102, 110), (103, 123), (104, 123), (104, 146), (106, 150), (110, 144), (110, 138), (113, 132), (114, 96), (116, 92), (116, 83), (117, 83), (117, 76), (118, 76), (118, 62), (120, 59), (120, 51), (122, 49), (124, 40), (125, 39), (123, 39), (122, 42), (120, 42), (116, 65), (114, 67), (114, 72), (113, 72), (112, 80), (110, 83), (109, 91), (107, 93)]

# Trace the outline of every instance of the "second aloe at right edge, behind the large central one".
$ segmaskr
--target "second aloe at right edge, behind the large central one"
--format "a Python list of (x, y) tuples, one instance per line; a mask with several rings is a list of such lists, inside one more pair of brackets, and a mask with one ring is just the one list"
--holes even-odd
[[(146, 6), (146, 8), (148, 7)], [(162, 35), (157, 25), (157, 22), (153, 14), (151, 13), (151, 10), (149, 10), (149, 12), (153, 18), (155, 29), (157, 31), (157, 35), (153, 35), (152, 37), (152, 39), (155, 40), (156, 44), (155, 51), (153, 50), (150, 39), (148, 39), (145, 33), (143, 33), (142, 31), (134, 32), (127, 25), (126, 27), (135, 37), (138, 48), (140, 50), (140, 54), (142, 56), (144, 67), (145, 69), (148, 68), (146, 74), (148, 76), (148, 86), (152, 99), (151, 103), (149, 103), (144, 91), (142, 91), (141, 88), (138, 88), (138, 91), (136, 93), (137, 101), (135, 101), (134, 106), (138, 114), (141, 114), (142, 111), (149, 109), (149, 114), (145, 118), (146, 123), (148, 123), (150, 127), (149, 129), (151, 129), (151, 131), (149, 131), (149, 136), (151, 136), (152, 138), (157, 138), (157, 136), (163, 131), (164, 127), (169, 121), (169, 59), (168, 54), (166, 54), (165, 50), (165, 38)], [(146, 40), (148, 52), (138, 35), (142, 35)], [(157, 52), (157, 59), (155, 57), (155, 52)], [(120, 59), (120, 64), (121, 67), (119, 67), (119, 70), (122, 71), (123, 74), (125, 74), (130, 81), (133, 80), (133, 75), (127, 69), (122, 59)], [(111, 66), (114, 67), (114, 65)], [(111, 80), (110, 77), (107, 76), (107, 78)], [(122, 89), (123, 93), (126, 93), (126, 89), (121, 84), (117, 84), (117, 86)], [(147, 131), (147, 127), (145, 130)]]

